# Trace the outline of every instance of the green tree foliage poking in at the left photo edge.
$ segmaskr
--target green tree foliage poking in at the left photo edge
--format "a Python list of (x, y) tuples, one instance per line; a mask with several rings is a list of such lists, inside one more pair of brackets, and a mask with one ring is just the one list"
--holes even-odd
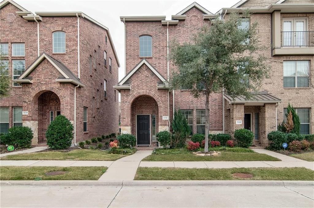
[(10, 95), (11, 77), (9, 76), (8, 61), (4, 59), (3, 53), (0, 52), (0, 98)]

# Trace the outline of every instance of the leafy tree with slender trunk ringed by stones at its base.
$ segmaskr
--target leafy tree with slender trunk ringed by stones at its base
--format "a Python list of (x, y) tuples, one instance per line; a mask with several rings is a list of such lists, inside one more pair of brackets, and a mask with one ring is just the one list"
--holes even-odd
[(192, 40), (171, 46), (171, 60), (178, 70), (170, 77), (172, 89), (189, 89), (198, 98), (205, 95), (205, 147), (208, 152), (209, 95), (225, 91), (231, 97), (244, 95), (247, 99), (257, 91), (261, 81), (268, 77), (265, 57), (253, 53), (259, 50), (257, 24), (240, 29), (249, 17), (231, 13), (225, 20), (216, 18), (210, 28), (204, 27)]

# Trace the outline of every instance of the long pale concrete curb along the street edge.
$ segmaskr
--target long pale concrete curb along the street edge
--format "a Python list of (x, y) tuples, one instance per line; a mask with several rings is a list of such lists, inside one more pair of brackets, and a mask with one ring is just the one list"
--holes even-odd
[(313, 181), (250, 181), (250, 180), (204, 180), (204, 181), (97, 181), (97, 180), (49, 180), (49, 181), (0, 181), (5, 185), (31, 186), (311, 186)]

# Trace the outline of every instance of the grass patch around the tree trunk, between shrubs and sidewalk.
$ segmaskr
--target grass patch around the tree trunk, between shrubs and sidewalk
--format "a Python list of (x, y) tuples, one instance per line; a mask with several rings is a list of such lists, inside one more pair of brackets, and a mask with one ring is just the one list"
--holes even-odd
[(280, 161), (276, 157), (260, 154), (248, 148), (220, 147), (209, 151), (219, 151), (219, 156), (196, 156), (187, 149), (156, 149), (142, 161)]

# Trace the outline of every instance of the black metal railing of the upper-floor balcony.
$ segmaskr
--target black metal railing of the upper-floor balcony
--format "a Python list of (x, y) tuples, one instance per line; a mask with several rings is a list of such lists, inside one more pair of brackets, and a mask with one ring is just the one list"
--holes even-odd
[(314, 46), (314, 31), (281, 32), (281, 46)]

